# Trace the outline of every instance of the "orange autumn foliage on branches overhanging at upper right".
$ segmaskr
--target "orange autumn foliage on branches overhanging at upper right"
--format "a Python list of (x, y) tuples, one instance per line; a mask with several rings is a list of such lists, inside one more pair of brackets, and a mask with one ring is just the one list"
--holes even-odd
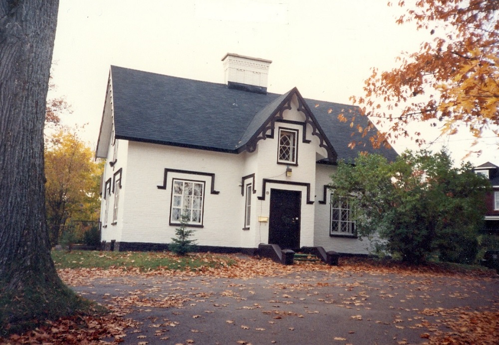
[[(389, 3), (391, 5), (391, 3)], [(465, 124), (476, 138), (499, 125), (499, 4), (497, 0), (418, 0), (397, 23), (428, 32), (418, 52), (398, 58), (391, 71), (372, 68), (363, 97), (352, 97), (374, 123), (389, 130), (371, 138), (379, 147), (399, 137), (423, 143), (407, 125), (425, 121), (443, 134)]]

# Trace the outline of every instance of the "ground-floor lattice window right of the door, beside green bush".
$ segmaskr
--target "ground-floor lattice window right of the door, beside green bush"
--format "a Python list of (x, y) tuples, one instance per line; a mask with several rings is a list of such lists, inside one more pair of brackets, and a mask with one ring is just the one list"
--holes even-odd
[(355, 236), (355, 221), (350, 202), (346, 197), (331, 194), (331, 219), (329, 235)]

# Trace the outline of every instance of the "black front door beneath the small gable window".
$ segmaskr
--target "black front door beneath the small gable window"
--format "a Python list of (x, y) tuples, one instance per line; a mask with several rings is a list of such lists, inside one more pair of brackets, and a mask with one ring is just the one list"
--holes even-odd
[(301, 191), (270, 189), (268, 243), (300, 248)]

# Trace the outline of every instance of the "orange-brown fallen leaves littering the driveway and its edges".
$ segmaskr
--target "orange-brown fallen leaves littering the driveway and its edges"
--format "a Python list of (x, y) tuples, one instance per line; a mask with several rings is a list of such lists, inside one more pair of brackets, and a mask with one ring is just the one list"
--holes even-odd
[[(200, 258), (203, 256), (208, 257), (210, 254), (195, 254)], [(189, 277), (208, 276), (213, 278), (239, 278), (250, 279), (254, 277), (277, 277), (284, 276), (291, 273), (300, 273), (304, 271), (324, 271), (334, 272), (341, 277), (342, 275), (348, 276), (352, 272), (355, 273), (369, 273), (369, 274), (398, 274), (404, 277), (412, 277), (409, 284), (421, 286), (419, 291), (425, 291), (425, 287), (421, 282), (426, 279), (425, 277), (444, 277), (456, 276), (465, 279), (474, 278), (494, 278), (497, 277), (493, 271), (478, 271), (478, 270), (465, 270), (459, 269), (455, 266), (428, 264), (424, 266), (411, 266), (394, 261), (375, 260), (367, 258), (340, 258), (339, 266), (327, 266), (322, 263), (299, 263), (295, 265), (283, 266), (268, 259), (259, 259), (255, 257), (246, 257), (241, 255), (227, 255), (227, 260), (231, 260), (232, 265), (224, 264), (220, 259), (220, 266), (213, 268), (209, 266), (201, 266), (195, 269), (180, 271), (158, 269), (147, 272), (142, 272), (138, 268), (81, 268), (81, 269), (61, 269), (58, 270), (61, 279), (70, 286), (89, 286), (93, 281), (123, 277)], [(423, 277), (415, 280), (414, 277)], [(314, 282), (314, 283), (300, 283), (300, 284), (287, 284), (287, 289), (312, 289), (327, 286), (328, 283)], [(345, 285), (345, 290), (351, 291), (357, 287), (357, 283)], [(275, 286), (279, 288), (278, 285)], [(284, 287), (282, 287), (284, 288)], [(288, 290), (289, 291), (289, 290)], [(47, 326), (37, 328), (34, 331), (28, 332), (24, 335), (12, 335), (7, 342), (12, 343), (57, 343), (57, 344), (81, 344), (100, 342), (106, 344), (103, 340), (110, 342), (120, 342), (125, 337), (125, 329), (135, 327), (137, 323), (130, 319), (122, 318), (129, 313), (133, 307), (182, 307), (187, 302), (192, 302), (194, 299), (189, 296), (182, 296), (180, 294), (171, 294), (168, 297), (153, 298), (146, 296), (147, 293), (154, 291), (137, 290), (130, 293), (128, 296), (105, 296), (108, 302), (108, 307), (112, 313), (106, 316), (75, 316), (72, 318), (60, 319), (55, 322), (47, 323)], [(253, 291), (251, 291), (254, 294)], [(382, 293), (380, 298), (393, 298), (393, 295)], [(424, 292), (423, 292), (424, 293)], [(240, 299), (240, 296), (231, 290), (226, 290), (222, 293), (225, 297), (233, 297)], [(292, 299), (289, 294), (281, 294), (281, 298), (285, 300)], [(422, 295), (424, 297), (424, 295)], [(199, 296), (201, 298), (203, 296)], [(360, 306), (367, 298), (367, 295), (359, 293), (355, 298), (349, 298), (342, 302), (342, 304), (352, 304)], [(455, 295), (450, 296), (461, 298), (466, 296)], [(406, 296), (407, 299), (413, 298), (412, 295)], [(333, 303), (334, 300), (320, 299), (320, 302)], [(404, 300), (405, 301), (405, 300)], [(293, 303), (291, 301), (274, 301), (275, 303)], [(349, 307), (348, 307), (349, 308)], [(254, 307), (243, 307), (243, 309), (254, 309)], [(283, 316), (298, 316), (296, 313), (285, 313), (278, 311), (264, 312), (274, 314), (273, 319), (281, 319)], [(307, 313), (314, 313), (308, 312)], [(495, 344), (499, 338), (499, 313), (493, 311), (466, 311), (466, 310), (425, 310), (421, 312), (425, 315), (434, 315), (444, 318), (442, 323), (451, 328), (453, 333), (435, 332), (434, 335), (429, 333), (421, 334), (421, 338), (430, 341), (430, 344)], [(200, 318), (200, 315), (194, 315), (193, 318)], [(354, 320), (362, 320), (361, 315), (352, 316)], [(234, 323), (233, 320), (226, 321), (229, 324)], [(175, 325), (172, 325), (174, 327)], [(396, 326), (397, 327), (397, 326)], [(241, 326), (243, 329), (249, 329), (248, 326)], [(397, 327), (403, 329), (403, 326)], [(264, 328), (256, 328), (257, 331), (264, 331)], [(288, 328), (289, 331), (294, 331), (293, 327)], [(432, 331), (433, 332), (433, 331)], [(353, 333), (353, 332), (352, 332)], [(161, 334), (159, 334), (161, 335)], [(161, 340), (166, 340), (168, 337), (163, 337)], [(342, 337), (337, 337), (334, 340), (342, 340)], [(1, 340), (1, 339), (0, 339)], [(1, 340), (3, 341), (3, 340)], [(189, 344), (190, 340), (187, 341)], [(404, 342), (404, 340), (402, 340)], [(146, 343), (146, 342), (144, 342)], [(401, 343), (401, 342), (399, 342)], [(192, 344), (192, 343), (191, 343)], [(238, 344), (250, 344), (246, 341), (239, 341)]]

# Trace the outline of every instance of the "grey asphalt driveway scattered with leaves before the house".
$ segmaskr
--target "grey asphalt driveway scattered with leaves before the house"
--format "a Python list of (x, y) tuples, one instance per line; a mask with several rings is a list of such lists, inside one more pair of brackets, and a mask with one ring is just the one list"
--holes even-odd
[(497, 278), (410, 272), (135, 275), (73, 288), (139, 322), (123, 344), (421, 344), (478, 332), (463, 319), (499, 310)]

